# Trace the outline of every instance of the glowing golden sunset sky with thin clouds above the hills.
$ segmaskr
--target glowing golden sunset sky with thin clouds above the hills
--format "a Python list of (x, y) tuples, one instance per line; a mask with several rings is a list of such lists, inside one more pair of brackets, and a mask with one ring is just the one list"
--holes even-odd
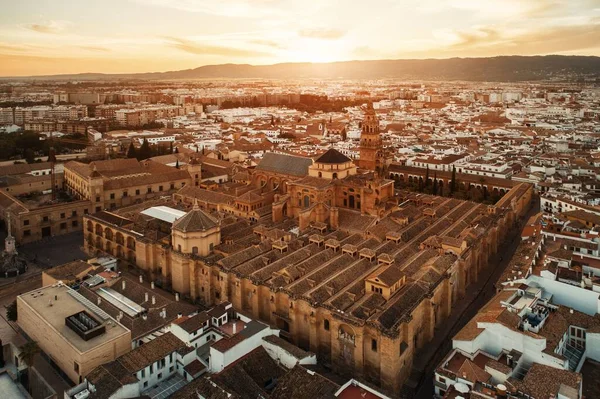
[(600, 56), (600, 0), (0, 0), (0, 76)]

